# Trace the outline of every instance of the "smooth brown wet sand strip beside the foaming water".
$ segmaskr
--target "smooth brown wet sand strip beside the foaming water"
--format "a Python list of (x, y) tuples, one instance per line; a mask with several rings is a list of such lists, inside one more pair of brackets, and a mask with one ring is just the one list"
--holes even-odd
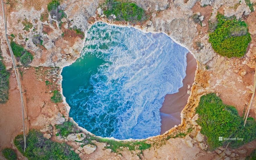
[(195, 58), (191, 53), (188, 53), (186, 77), (182, 81), (183, 86), (179, 88), (179, 92), (167, 94), (160, 109), (161, 134), (181, 123), (180, 113), (187, 104), (189, 98), (187, 90), (191, 90), (191, 88), (188, 89), (188, 84), (191, 87), (194, 82), (196, 66)]

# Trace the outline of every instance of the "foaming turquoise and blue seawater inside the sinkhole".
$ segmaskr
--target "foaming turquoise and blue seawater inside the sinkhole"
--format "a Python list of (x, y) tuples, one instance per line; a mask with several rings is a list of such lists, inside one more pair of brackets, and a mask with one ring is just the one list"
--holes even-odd
[(187, 53), (163, 33), (94, 24), (81, 57), (61, 73), (70, 117), (97, 136), (159, 135), (159, 109), (183, 86)]

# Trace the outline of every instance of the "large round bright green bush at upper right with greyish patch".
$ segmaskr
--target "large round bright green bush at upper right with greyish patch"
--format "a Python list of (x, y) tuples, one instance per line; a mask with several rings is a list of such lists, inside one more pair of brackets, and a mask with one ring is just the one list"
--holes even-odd
[[(242, 57), (251, 41), (247, 24), (236, 17), (225, 17), (218, 13), (216, 29), (209, 33), (209, 42), (221, 56)], [(210, 26), (212, 27), (212, 26)]]

